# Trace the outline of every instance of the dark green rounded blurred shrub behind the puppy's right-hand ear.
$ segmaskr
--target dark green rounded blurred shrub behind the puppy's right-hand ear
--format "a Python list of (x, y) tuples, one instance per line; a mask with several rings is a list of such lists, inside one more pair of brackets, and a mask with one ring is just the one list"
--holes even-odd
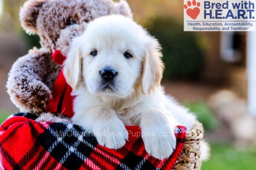
[(164, 78), (195, 78), (204, 68), (203, 49), (198, 35), (184, 32), (183, 25), (171, 17), (155, 17), (145, 27), (163, 47)]

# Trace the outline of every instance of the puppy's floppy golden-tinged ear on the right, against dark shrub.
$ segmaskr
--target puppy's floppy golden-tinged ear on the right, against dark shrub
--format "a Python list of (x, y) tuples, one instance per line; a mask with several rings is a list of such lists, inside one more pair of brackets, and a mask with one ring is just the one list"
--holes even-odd
[(143, 61), (142, 90), (144, 94), (150, 94), (160, 87), (163, 77), (164, 65), (162, 62), (162, 52), (159, 42), (149, 37), (147, 51)]

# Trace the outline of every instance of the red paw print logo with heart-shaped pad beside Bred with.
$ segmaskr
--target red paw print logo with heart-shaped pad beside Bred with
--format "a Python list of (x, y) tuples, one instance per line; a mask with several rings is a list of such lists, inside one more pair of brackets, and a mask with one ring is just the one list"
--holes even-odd
[(200, 9), (198, 8), (200, 6), (201, 3), (197, 3), (195, 0), (193, 0), (192, 3), (191, 1), (188, 1), (187, 4), (184, 5), (184, 8), (186, 9), (186, 14), (195, 20), (200, 14)]

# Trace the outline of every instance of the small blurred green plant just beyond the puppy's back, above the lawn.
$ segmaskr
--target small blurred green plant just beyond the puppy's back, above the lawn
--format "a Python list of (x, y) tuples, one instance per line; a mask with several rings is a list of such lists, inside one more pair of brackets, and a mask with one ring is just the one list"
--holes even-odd
[(215, 115), (205, 102), (184, 103), (192, 113), (195, 113), (199, 122), (204, 126), (205, 130), (214, 130), (218, 127), (219, 122)]

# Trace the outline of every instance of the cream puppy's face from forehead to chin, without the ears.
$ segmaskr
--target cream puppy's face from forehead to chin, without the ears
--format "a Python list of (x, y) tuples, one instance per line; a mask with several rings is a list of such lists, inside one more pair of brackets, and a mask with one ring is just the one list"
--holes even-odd
[(93, 26), (81, 38), (84, 83), (93, 94), (126, 96), (140, 75), (143, 45), (130, 32), (109, 29)]

